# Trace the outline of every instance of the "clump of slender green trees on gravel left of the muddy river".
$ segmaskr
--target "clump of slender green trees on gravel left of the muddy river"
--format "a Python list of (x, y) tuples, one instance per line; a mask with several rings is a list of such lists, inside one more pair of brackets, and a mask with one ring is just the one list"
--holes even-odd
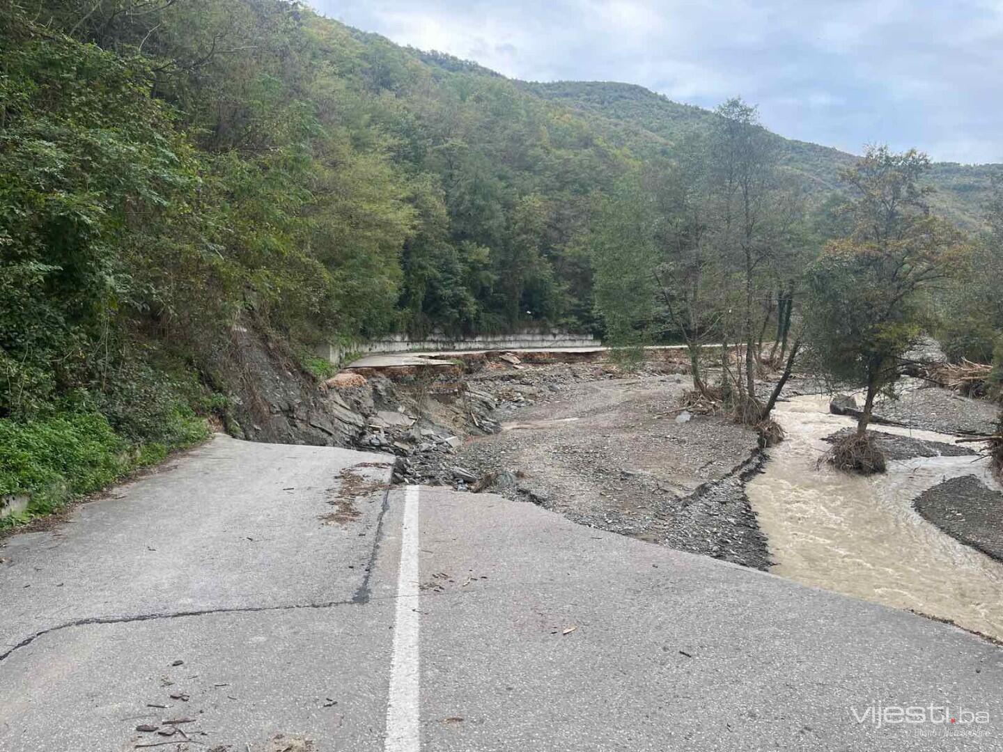
[[(757, 363), (787, 354), (798, 282), (819, 245), (805, 193), (740, 98), (718, 107), (706, 131), (681, 137), (671, 160), (651, 157), (625, 175), (592, 225), (596, 306), (609, 337), (685, 343), (696, 392), (763, 423), (776, 397), (759, 399)], [(716, 387), (702, 376), (707, 344), (739, 356), (733, 367), (722, 357)]]

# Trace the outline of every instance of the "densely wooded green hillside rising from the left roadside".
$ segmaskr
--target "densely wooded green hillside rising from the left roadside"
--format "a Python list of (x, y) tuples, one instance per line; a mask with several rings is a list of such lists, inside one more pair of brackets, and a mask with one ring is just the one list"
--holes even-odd
[[(0, 495), (53, 481), (40, 453), (99, 465), (80, 490), (123, 446), (202, 435), (238, 332), (292, 369), (390, 331), (602, 333), (597, 218), (626, 176), (685, 173), (716, 118), (288, 0), (0, 3)], [(852, 160), (767, 136), (811, 206)], [(977, 227), (998, 167), (938, 165), (941, 206)]]

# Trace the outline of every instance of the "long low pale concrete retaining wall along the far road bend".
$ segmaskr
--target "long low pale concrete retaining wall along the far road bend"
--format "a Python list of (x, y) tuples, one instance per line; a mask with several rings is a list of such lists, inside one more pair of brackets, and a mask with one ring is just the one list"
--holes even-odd
[(379, 340), (347, 346), (325, 343), (317, 354), (335, 365), (352, 357), (371, 353), (406, 353), (468, 350), (525, 350), (548, 347), (600, 347), (602, 343), (585, 334), (572, 332), (516, 332), (514, 334), (482, 334), (465, 339), (431, 334), (423, 340), (412, 340), (406, 334), (393, 334)]

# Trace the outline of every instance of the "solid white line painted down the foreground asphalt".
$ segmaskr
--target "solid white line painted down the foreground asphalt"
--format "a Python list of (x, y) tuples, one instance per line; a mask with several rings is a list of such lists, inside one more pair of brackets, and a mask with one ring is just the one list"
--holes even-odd
[(419, 752), (418, 593), (418, 486), (409, 485), (404, 492), (400, 530), (397, 613), (383, 744), (386, 752)]

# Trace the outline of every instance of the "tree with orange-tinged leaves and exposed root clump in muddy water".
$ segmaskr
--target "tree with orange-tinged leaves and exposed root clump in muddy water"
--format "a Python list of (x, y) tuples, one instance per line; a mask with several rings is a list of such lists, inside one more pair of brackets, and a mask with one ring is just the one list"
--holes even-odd
[(867, 435), (875, 398), (908, 366), (922, 328), (920, 295), (945, 280), (966, 254), (961, 233), (931, 216), (921, 184), (926, 154), (887, 146), (842, 173), (851, 193), (848, 237), (828, 243), (808, 272), (806, 334), (814, 361), (830, 377), (866, 388), (857, 431), (833, 447), (844, 469), (875, 472), (884, 458)]

